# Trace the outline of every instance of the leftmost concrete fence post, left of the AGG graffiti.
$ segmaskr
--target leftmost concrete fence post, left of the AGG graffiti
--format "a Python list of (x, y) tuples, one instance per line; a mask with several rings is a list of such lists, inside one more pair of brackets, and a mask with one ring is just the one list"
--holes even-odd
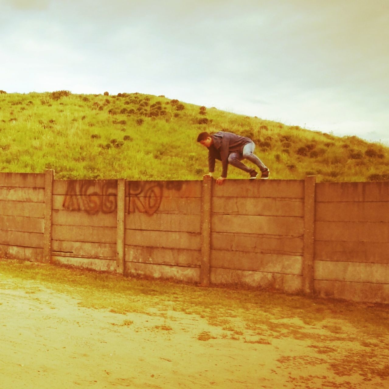
[(53, 179), (54, 170), (46, 170), (44, 177), (44, 234), (43, 262), (51, 262), (51, 226), (53, 215)]

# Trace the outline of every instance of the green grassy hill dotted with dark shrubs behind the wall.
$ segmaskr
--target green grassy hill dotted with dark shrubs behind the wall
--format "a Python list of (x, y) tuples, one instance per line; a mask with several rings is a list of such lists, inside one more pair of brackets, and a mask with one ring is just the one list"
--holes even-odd
[[(201, 179), (201, 131), (252, 138), (272, 179), (318, 182), (389, 179), (389, 148), (298, 126), (141, 93), (73, 95), (0, 91), (0, 171), (56, 178)], [(250, 164), (250, 163), (248, 163)], [(217, 161), (216, 173), (221, 172)], [(229, 166), (228, 178), (247, 178)]]

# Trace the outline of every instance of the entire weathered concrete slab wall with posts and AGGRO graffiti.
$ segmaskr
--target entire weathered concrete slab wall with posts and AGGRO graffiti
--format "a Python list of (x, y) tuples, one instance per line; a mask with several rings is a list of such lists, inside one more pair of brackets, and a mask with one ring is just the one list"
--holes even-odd
[(389, 302), (389, 182), (0, 173), (0, 256)]

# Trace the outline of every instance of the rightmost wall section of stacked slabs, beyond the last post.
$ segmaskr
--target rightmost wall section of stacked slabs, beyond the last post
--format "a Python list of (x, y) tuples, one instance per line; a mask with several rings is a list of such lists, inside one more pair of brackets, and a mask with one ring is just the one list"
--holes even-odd
[(389, 302), (389, 182), (316, 185), (315, 291)]

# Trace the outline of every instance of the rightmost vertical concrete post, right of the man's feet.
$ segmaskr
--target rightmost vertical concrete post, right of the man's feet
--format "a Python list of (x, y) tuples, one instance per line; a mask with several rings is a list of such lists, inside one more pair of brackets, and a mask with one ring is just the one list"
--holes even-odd
[(315, 186), (316, 177), (305, 177), (304, 185), (304, 252), (303, 292), (313, 294), (313, 264), (315, 248)]

